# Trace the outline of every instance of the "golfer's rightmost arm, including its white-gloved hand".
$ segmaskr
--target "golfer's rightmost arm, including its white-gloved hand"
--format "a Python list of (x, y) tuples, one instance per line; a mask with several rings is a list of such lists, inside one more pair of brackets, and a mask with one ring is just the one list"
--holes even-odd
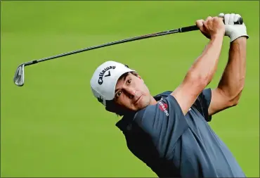
[(228, 64), (223, 72), (219, 85), (212, 90), (212, 101), (209, 115), (236, 106), (245, 84), (247, 35), (245, 24), (234, 25), (240, 18), (238, 14), (219, 14), (225, 20), (225, 35), (230, 37)]

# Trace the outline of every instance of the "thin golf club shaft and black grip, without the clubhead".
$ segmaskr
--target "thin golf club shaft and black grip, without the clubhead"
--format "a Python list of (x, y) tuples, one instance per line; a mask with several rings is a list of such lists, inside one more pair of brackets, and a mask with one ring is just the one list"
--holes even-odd
[(34, 63), (40, 63), (40, 62), (43, 62), (43, 61), (51, 60), (53, 58), (60, 58), (60, 57), (63, 57), (63, 56), (69, 56), (69, 55), (72, 55), (72, 54), (75, 54), (75, 53), (81, 53), (83, 51), (89, 51), (89, 50), (92, 50), (92, 49), (103, 48), (105, 46), (112, 46), (112, 45), (115, 45), (115, 44), (122, 44), (122, 43), (125, 43), (125, 42), (133, 42), (133, 41), (140, 40), (140, 39), (148, 39), (148, 38), (151, 38), (151, 37), (159, 37), (159, 36), (166, 35), (166, 34), (173, 34), (173, 33), (177, 33), (177, 32), (188, 32), (188, 31), (193, 31), (193, 30), (198, 30), (196, 25), (189, 26), (189, 27), (182, 27), (182, 28), (178, 28), (178, 29), (175, 29), (175, 30), (167, 30), (167, 31), (163, 31), (163, 32), (156, 32), (156, 33), (153, 33), (153, 34), (145, 34), (145, 35), (141, 35), (141, 36), (138, 36), (138, 37), (131, 37), (131, 38), (128, 38), (128, 39), (122, 39), (122, 40), (119, 40), (119, 41), (116, 41), (116, 42), (109, 42), (109, 43), (106, 43), (106, 44), (100, 44), (98, 46), (91, 46), (91, 47), (88, 47), (88, 48), (85, 48), (85, 49), (79, 49), (79, 50), (70, 51), (70, 52), (67, 52), (67, 53), (60, 53), (56, 56), (51, 56), (51, 57), (42, 58), (42, 59), (39, 59), (39, 60), (27, 62), (27, 63), (25, 63), (25, 65), (32, 65)]

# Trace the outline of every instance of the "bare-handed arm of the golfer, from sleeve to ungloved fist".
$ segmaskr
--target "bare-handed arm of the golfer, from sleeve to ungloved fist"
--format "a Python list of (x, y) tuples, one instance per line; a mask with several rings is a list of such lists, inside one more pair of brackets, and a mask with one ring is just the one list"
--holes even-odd
[(212, 81), (219, 62), (225, 34), (222, 18), (208, 17), (205, 21), (197, 20), (196, 25), (210, 41), (190, 70), (188, 70), (183, 82), (171, 93), (178, 101), (184, 115), (193, 105), (197, 96)]

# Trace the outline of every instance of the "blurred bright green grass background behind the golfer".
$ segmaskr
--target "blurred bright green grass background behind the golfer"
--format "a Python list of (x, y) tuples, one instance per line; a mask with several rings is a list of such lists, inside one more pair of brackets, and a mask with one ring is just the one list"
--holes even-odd
[[(208, 40), (200, 32), (109, 46), (28, 66), (20, 63), (141, 34), (194, 25), (219, 13), (247, 25), (247, 76), (240, 103), (210, 125), (247, 177), (259, 177), (259, 1), (1, 1), (1, 177), (156, 177), (126, 148), (119, 120), (93, 98), (100, 63), (128, 64), (153, 95), (174, 90)], [(216, 87), (227, 63), (225, 37)]]

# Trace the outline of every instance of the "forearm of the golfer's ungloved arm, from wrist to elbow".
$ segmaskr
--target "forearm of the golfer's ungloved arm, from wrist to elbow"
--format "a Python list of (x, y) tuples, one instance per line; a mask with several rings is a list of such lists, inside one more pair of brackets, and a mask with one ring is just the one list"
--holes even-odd
[(197, 78), (202, 81), (204, 85), (207, 85), (212, 81), (219, 62), (222, 43), (223, 36), (218, 35), (212, 37), (202, 54), (197, 58), (190, 70), (187, 72), (186, 80)]

